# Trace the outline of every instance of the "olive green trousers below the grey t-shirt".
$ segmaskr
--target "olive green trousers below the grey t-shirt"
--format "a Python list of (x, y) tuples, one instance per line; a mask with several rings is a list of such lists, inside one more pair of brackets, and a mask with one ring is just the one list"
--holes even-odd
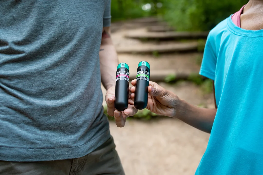
[(111, 137), (80, 158), (43, 162), (0, 161), (0, 175), (124, 175)]

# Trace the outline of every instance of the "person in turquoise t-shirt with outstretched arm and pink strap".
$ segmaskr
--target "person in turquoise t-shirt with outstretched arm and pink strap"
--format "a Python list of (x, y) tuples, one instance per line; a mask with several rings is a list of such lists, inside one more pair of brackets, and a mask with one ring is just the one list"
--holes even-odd
[[(155, 82), (148, 87), (147, 109), (211, 133), (196, 175), (263, 174), (263, 1), (243, 8), (206, 41), (200, 75), (214, 82), (215, 109), (191, 105)], [(131, 92), (134, 98), (135, 87)]]

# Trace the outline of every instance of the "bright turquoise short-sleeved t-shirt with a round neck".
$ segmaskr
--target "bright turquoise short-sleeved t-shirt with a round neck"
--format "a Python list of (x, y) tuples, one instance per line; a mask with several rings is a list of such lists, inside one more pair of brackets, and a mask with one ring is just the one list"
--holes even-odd
[(218, 110), (196, 175), (263, 174), (263, 30), (231, 17), (210, 31), (200, 75), (215, 81)]

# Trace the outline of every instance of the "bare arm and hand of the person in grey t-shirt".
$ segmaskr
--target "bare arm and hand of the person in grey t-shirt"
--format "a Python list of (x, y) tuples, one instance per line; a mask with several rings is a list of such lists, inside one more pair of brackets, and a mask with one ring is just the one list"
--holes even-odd
[(105, 100), (107, 102), (107, 113), (114, 116), (118, 127), (125, 125), (126, 118), (137, 113), (133, 101), (129, 99), (128, 108), (120, 112), (114, 107), (116, 69), (119, 64), (117, 52), (110, 37), (110, 27), (104, 27), (102, 31), (102, 41), (99, 52), (101, 81), (107, 93)]

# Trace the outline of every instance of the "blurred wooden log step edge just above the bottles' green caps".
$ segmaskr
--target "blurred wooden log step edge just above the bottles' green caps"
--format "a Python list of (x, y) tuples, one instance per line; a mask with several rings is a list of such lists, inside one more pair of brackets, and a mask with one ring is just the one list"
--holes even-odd
[(195, 51), (198, 48), (198, 42), (188, 43), (168, 43), (168, 44), (138, 44), (129, 46), (118, 46), (118, 53), (165, 53), (165, 52), (180, 52), (180, 51)]

